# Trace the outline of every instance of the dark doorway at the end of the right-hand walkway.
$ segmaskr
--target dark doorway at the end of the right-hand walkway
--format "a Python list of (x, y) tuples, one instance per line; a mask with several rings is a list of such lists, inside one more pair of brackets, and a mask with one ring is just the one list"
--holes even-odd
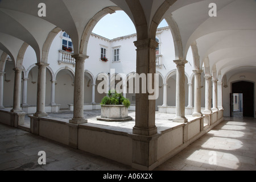
[(243, 117), (254, 117), (254, 83), (248, 81), (234, 82), (232, 93), (243, 94)]

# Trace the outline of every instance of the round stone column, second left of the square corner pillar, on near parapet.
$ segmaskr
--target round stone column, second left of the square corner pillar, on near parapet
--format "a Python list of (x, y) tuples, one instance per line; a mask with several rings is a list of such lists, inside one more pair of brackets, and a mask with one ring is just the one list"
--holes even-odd
[(36, 99), (35, 117), (46, 117), (46, 67), (49, 64), (37, 63), (38, 66), (38, 94)]

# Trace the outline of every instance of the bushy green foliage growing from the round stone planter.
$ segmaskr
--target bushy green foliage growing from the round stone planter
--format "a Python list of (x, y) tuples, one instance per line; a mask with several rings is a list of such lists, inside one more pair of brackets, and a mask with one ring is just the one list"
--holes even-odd
[(129, 107), (129, 99), (122, 96), (121, 93), (117, 93), (115, 90), (109, 90), (108, 96), (105, 96), (101, 100), (101, 105), (125, 105)]

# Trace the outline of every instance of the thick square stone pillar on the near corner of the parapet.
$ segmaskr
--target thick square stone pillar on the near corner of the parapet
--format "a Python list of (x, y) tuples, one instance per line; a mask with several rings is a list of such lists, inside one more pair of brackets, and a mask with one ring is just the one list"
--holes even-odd
[[(158, 43), (153, 39), (137, 40), (134, 42), (137, 47), (137, 73), (152, 74), (152, 87), (154, 88), (155, 74), (155, 48)], [(150, 94), (141, 92), (142, 83), (140, 82), (140, 92), (136, 93), (135, 126), (133, 134), (150, 136), (157, 133), (155, 126), (155, 100), (149, 100)]]

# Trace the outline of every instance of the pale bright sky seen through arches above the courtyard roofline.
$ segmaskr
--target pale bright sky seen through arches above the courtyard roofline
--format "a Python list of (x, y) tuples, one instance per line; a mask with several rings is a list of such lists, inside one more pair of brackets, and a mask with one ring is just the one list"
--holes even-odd
[[(166, 20), (163, 20), (159, 24), (159, 27), (166, 26), (168, 26)], [(96, 24), (92, 32), (111, 40), (120, 36), (135, 34), (136, 29), (133, 22), (124, 11), (115, 11), (113, 14), (104, 16)]]

